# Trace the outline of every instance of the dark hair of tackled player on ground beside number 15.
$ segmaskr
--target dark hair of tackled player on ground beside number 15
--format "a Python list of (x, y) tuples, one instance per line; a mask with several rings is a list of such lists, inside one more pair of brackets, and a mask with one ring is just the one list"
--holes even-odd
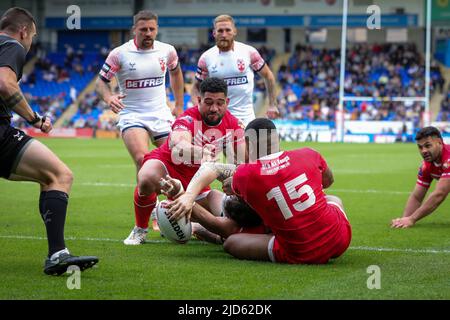
[(236, 221), (241, 227), (256, 227), (262, 219), (244, 200), (237, 196), (228, 197), (224, 205), (225, 216)]

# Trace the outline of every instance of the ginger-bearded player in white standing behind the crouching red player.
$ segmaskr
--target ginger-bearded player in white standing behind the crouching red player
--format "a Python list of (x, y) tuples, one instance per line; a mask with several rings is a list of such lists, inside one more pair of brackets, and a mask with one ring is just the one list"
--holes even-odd
[(264, 78), (269, 95), (267, 116), (276, 118), (279, 115), (275, 77), (258, 50), (235, 41), (237, 29), (234, 20), (229, 15), (217, 16), (214, 20), (213, 36), (216, 45), (204, 52), (197, 66), (196, 81), (192, 90), (192, 99), (198, 96), (201, 81), (208, 77), (218, 77), (228, 85), (230, 104), (228, 110), (244, 125), (255, 119), (253, 109), (254, 72)]

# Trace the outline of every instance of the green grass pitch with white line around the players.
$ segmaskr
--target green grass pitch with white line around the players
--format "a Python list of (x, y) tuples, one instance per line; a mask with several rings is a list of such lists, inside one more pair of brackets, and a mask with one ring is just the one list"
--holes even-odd
[[(342, 257), (301, 266), (240, 261), (221, 246), (175, 245), (155, 232), (150, 243), (124, 246), (134, 223), (135, 169), (122, 142), (43, 142), (75, 175), (67, 245), (73, 254), (99, 256), (100, 263), (81, 274), (80, 290), (67, 288), (67, 275), (44, 275), (39, 188), (0, 180), (0, 299), (450, 298), (450, 200), (412, 229), (389, 228), (416, 181), (420, 156), (413, 144), (283, 144), (322, 153), (335, 175), (328, 193), (343, 199), (353, 227)], [(367, 288), (370, 265), (381, 268), (380, 290)]]

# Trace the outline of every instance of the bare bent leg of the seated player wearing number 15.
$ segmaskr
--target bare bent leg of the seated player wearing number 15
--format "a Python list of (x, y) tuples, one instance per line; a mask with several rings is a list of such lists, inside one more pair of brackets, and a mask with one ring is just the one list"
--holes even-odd
[(236, 233), (225, 240), (223, 248), (238, 259), (270, 261), (268, 246), (272, 237), (272, 234)]

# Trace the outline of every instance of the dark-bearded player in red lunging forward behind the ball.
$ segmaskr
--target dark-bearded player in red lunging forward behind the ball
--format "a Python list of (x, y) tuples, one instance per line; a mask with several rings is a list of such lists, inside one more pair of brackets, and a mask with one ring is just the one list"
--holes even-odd
[[(201, 163), (213, 160), (222, 152), (227, 159), (243, 157), (243, 129), (236, 117), (227, 110), (227, 85), (219, 78), (208, 78), (200, 86), (198, 106), (186, 110), (172, 125), (167, 141), (159, 148), (146, 154), (138, 173), (139, 194), (153, 199), (161, 194), (160, 180), (169, 175), (181, 181), (187, 188)], [(240, 151), (238, 149), (241, 149)], [(209, 203), (221, 194), (210, 192), (206, 185), (196, 200), (212, 212)], [(139, 228), (139, 241), (145, 242), (149, 215), (136, 216), (136, 228)]]

